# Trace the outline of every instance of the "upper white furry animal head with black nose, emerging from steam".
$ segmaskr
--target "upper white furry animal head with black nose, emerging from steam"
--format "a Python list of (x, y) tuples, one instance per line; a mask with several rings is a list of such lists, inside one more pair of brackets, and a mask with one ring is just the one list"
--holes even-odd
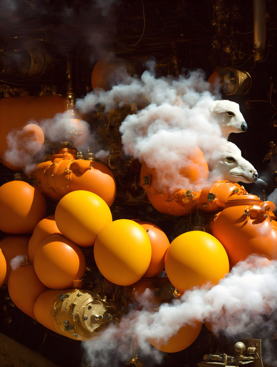
[(211, 116), (217, 121), (222, 135), (227, 139), (231, 132), (247, 130), (247, 124), (240, 112), (240, 106), (232, 101), (214, 101), (210, 109)]

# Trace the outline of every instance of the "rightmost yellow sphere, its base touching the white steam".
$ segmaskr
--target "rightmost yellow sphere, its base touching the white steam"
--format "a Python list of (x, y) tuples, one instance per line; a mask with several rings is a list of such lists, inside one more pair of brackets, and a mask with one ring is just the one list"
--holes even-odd
[(217, 284), (229, 273), (229, 260), (222, 244), (212, 235), (191, 231), (174, 239), (165, 257), (170, 282), (181, 293), (210, 282)]

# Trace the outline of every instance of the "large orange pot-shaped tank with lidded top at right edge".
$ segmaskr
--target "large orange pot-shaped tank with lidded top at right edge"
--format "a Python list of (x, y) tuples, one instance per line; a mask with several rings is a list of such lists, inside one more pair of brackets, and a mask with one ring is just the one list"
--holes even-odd
[(224, 246), (234, 266), (250, 254), (277, 258), (277, 230), (270, 219), (275, 205), (255, 195), (229, 197), (213, 223), (213, 235)]

